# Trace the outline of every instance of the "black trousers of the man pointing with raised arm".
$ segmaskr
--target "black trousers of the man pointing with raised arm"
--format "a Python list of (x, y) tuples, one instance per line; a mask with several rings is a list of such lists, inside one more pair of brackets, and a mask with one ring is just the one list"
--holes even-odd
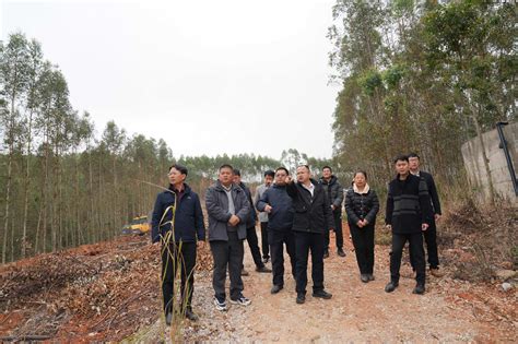
[(306, 294), (307, 259), (311, 251), (313, 290), (323, 289), (323, 234), (294, 232), (296, 259), (296, 292)]

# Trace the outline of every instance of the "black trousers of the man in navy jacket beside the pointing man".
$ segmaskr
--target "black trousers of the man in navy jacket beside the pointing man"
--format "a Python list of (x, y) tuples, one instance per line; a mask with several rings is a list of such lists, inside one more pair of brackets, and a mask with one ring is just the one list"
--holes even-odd
[(270, 242), (271, 254), (272, 254), (272, 274), (273, 284), (283, 286), (284, 285), (284, 245), (286, 246), (287, 254), (292, 263), (292, 275), (296, 278), (295, 274), (295, 237), (291, 228), (286, 230), (268, 230), (268, 242)]

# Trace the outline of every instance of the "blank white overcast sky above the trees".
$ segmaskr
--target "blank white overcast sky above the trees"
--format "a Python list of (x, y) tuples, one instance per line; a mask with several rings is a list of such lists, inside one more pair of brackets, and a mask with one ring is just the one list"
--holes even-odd
[(9, 1), (97, 131), (163, 138), (175, 156), (297, 149), (330, 157), (334, 0)]

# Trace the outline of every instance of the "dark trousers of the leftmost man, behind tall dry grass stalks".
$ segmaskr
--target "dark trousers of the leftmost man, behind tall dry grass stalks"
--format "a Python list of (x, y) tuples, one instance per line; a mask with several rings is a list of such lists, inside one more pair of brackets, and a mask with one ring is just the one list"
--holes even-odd
[(195, 290), (196, 242), (164, 244), (162, 245), (162, 295), (164, 297), (164, 312), (173, 310), (175, 276), (180, 270), (180, 299), (184, 308), (190, 308)]

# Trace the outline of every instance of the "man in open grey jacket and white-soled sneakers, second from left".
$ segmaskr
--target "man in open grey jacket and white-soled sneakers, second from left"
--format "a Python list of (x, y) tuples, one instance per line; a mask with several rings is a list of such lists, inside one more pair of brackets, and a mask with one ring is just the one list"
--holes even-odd
[(243, 240), (247, 235), (246, 221), (251, 207), (245, 191), (233, 183), (233, 171), (231, 165), (222, 165), (216, 182), (205, 193), (209, 242), (214, 260), (214, 306), (221, 311), (228, 309), (225, 293), (227, 269), (231, 277), (231, 304), (250, 305), (250, 300), (243, 296), (242, 265), (245, 252)]

